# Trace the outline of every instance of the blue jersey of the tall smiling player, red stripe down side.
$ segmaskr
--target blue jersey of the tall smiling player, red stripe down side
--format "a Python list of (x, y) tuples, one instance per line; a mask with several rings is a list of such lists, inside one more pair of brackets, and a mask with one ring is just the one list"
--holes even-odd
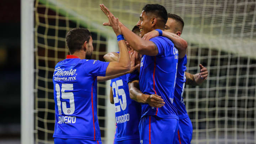
[(158, 55), (143, 55), (140, 63), (139, 85), (143, 94), (157, 94), (165, 105), (154, 108), (142, 103), (142, 116), (156, 115), (161, 118), (177, 118), (173, 105), (174, 88), (178, 64), (178, 50), (166, 37), (151, 38), (158, 48)]

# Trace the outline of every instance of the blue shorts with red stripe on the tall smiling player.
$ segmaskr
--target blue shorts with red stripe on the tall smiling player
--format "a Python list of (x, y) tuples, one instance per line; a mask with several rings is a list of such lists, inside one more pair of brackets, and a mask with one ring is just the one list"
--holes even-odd
[(176, 118), (144, 116), (140, 119), (140, 144), (175, 143), (179, 121)]

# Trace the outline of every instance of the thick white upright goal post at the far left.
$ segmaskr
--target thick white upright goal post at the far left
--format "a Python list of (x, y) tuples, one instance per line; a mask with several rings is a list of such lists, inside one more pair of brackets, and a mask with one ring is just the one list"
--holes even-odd
[(21, 0), (21, 144), (34, 143), (34, 0)]

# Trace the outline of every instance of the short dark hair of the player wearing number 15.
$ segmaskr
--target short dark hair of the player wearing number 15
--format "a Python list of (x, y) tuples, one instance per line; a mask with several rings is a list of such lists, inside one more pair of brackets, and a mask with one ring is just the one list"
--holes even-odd
[(66, 44), (70, 54), (82, 48), (85, 41), (89, 43), (91, 32), (86, 28), (73, 28), (66, 34)]

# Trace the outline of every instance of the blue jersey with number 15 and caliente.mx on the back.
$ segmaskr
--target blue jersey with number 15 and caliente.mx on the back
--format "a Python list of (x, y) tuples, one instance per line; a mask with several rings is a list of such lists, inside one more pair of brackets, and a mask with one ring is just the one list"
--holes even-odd
[(68, 55), (53, 74), (54, 138), (101, 140), (97, 119), (97, 76), (105, 76), (109, 62)]

